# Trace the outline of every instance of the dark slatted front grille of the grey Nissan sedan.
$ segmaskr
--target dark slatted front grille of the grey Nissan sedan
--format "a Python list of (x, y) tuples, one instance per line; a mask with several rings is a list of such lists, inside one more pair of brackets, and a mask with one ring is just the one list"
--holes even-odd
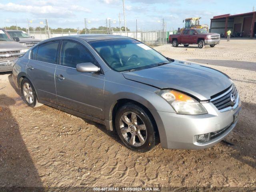
[(234, 106), (234, 103), (231, 101), (231, 94), (233, 94), (235, 98), (238, 94), (234, 84), (232, 84), (232, 86), (230, 86), (227, 90), (212, 96), (210, 101), (218, 110)]

